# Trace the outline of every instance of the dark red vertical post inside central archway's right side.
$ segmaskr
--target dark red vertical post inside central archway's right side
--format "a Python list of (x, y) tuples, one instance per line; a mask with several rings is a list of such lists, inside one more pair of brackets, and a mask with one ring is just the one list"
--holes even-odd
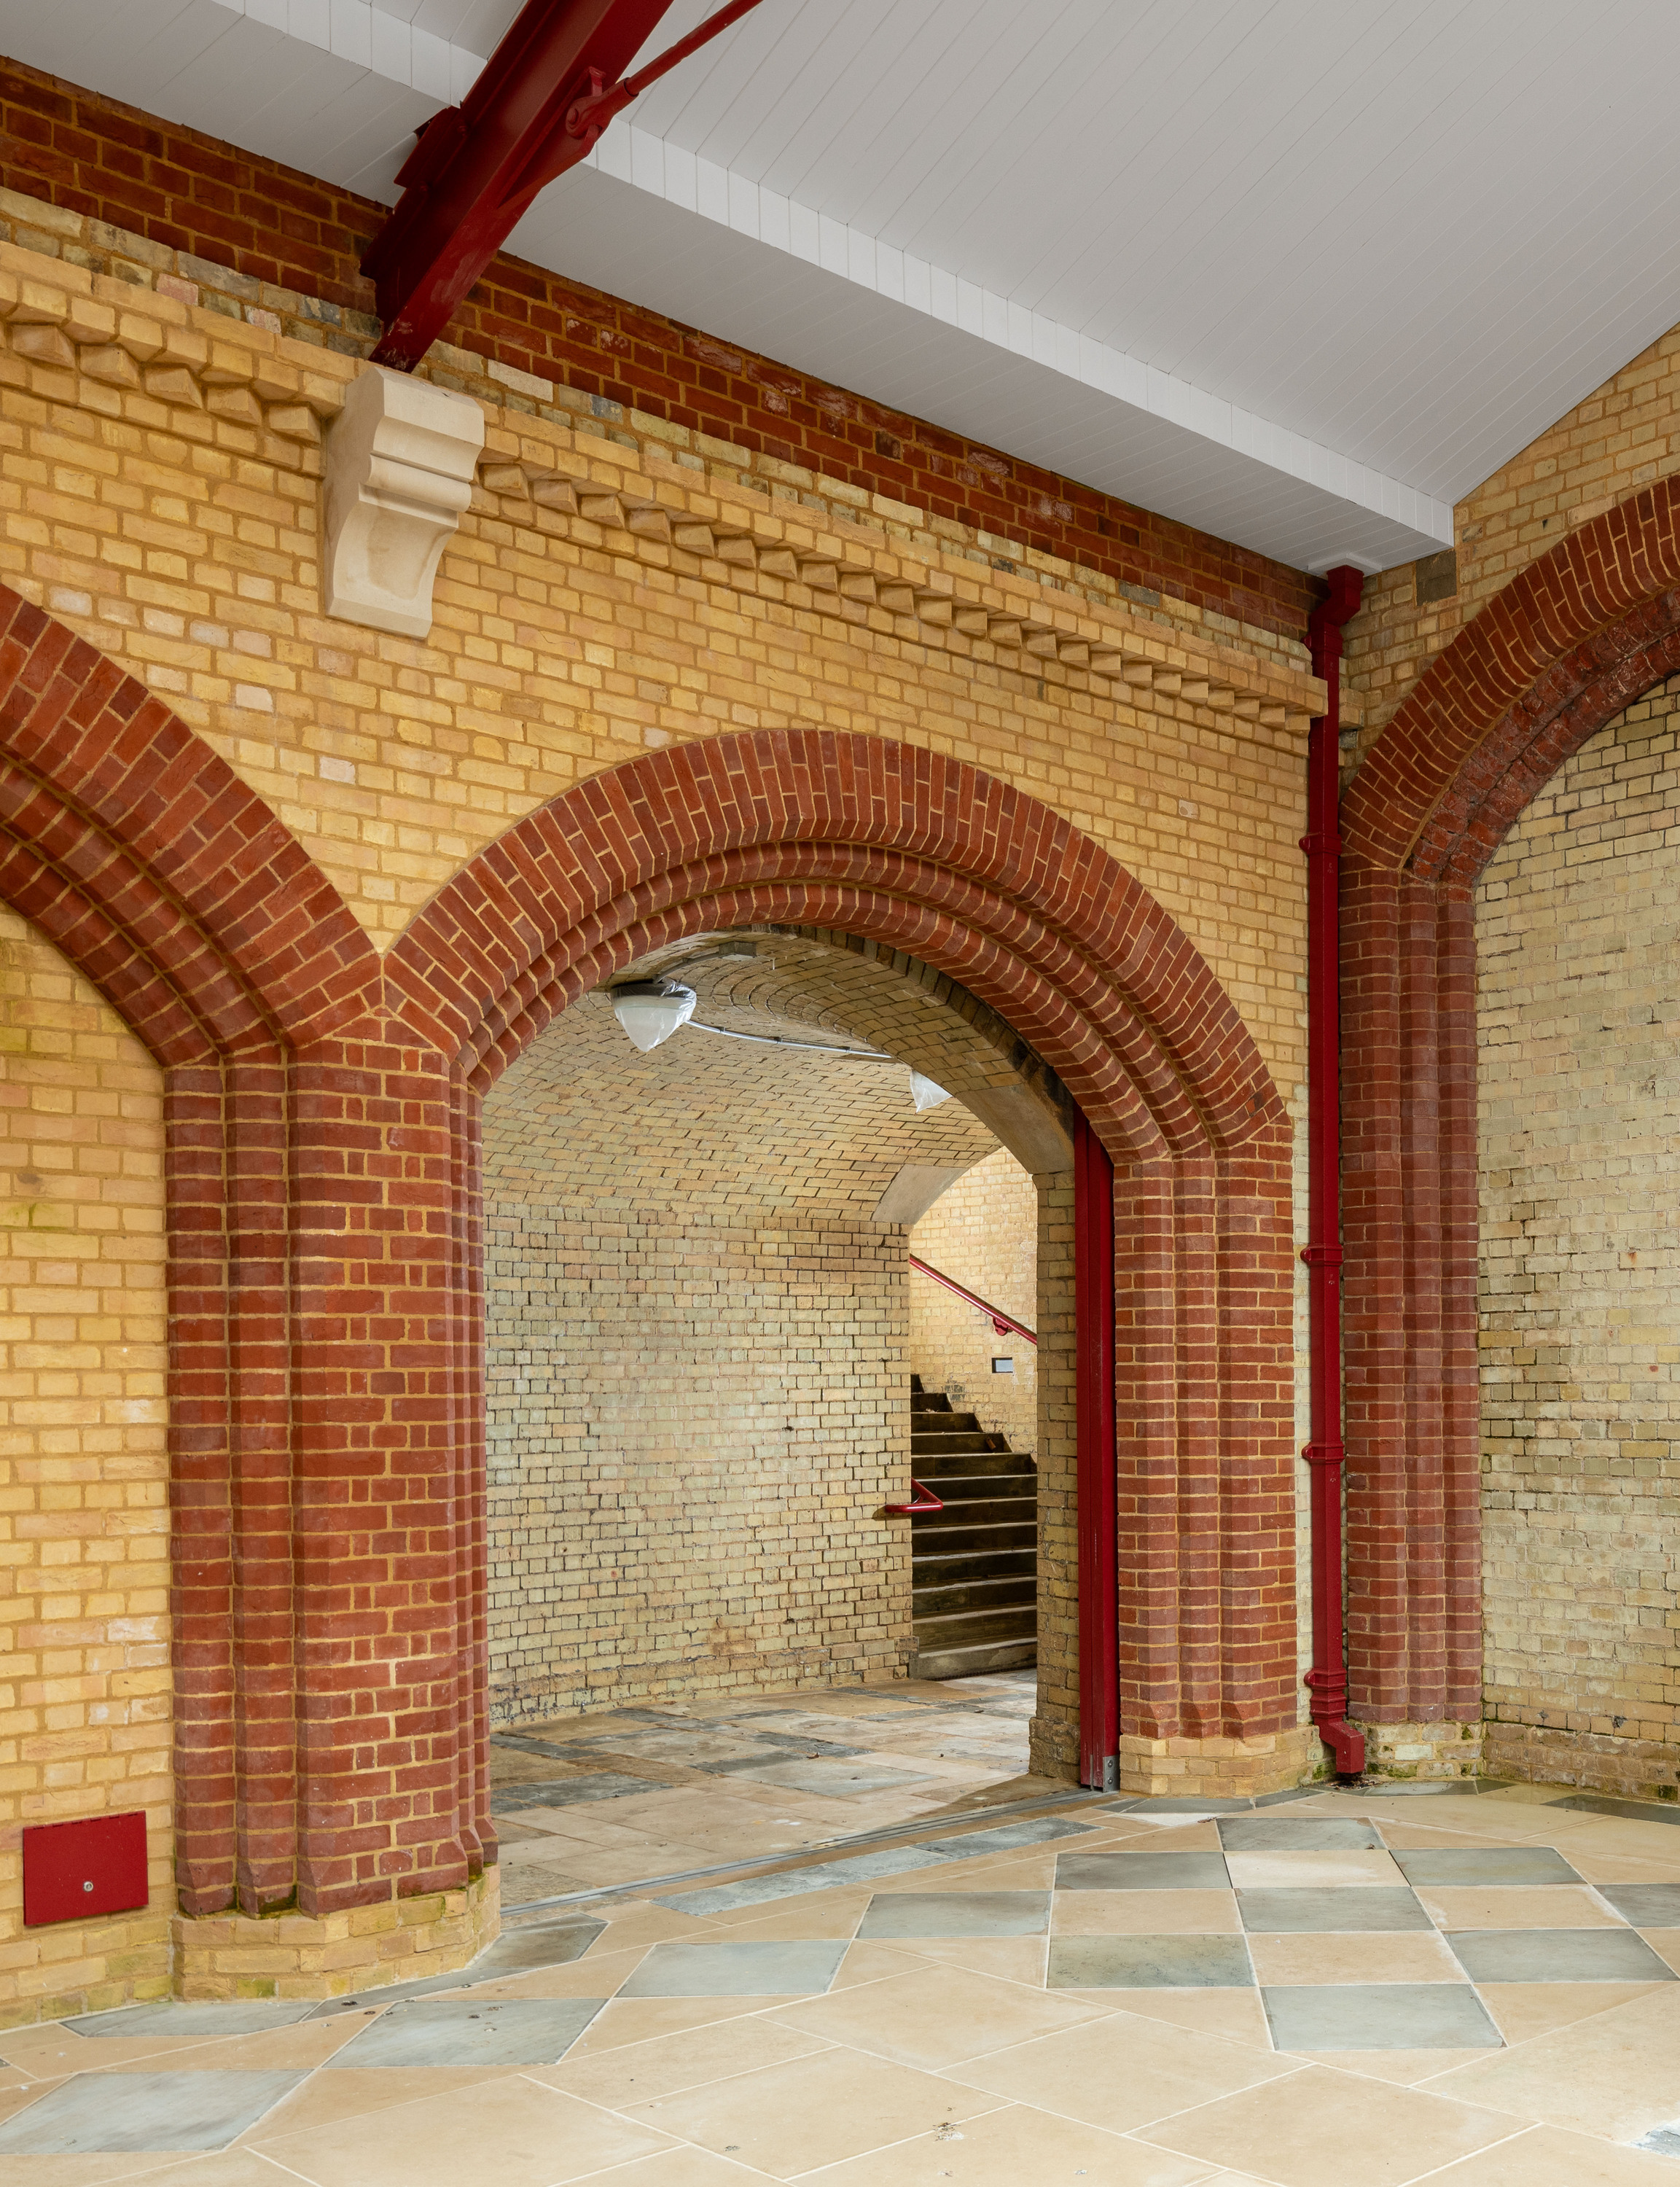
[(1078, 1782), (1120, 1771), (1120, 1518), (1113, 1435), (1113, 1161), (1074, 1115), (1074, 1435), (1078, 1443)]

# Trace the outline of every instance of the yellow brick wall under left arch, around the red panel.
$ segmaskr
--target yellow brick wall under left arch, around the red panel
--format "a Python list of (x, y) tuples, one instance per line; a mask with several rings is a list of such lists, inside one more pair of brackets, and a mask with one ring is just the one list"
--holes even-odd
[[(0, 2025), (168, 1988), (162, 1076), (0, 910)], [(22, 1927), (28, 1824), (144, 1809), (144, 1914)]]

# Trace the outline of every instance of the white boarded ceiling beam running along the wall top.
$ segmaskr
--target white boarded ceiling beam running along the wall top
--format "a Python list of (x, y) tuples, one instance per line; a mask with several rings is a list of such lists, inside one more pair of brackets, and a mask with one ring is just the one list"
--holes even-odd
[(1452, 545), (1452, 505), (645, 129), (510, 249), (1297, 569)]

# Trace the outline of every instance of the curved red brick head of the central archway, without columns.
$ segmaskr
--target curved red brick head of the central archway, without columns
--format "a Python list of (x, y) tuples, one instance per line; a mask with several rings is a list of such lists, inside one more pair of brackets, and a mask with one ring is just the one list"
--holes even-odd
[[(387, 960), (392, 999), (477, 1067), (477, 1052), (505, 1052), (532, 997), (608, 929), (682, 892), (794, 884), (875, 890), (899, 905), (901, 927), (930, 908), (1030, 964), (1068, 1026), (1085, 1026), (1063, 1037), (1065, 1052), (1046, 1045), (1046, 1061), (1072, 1087), (1092, 1080), (1087, 1039), (1124, 1056), (1168, 1146), (1232, 1148), (1282, 1118), (1205, 960), (1107, 851), (965, 761), (833, 730), (672, 746), (553, 798), (416, 919)], [(917, 910), (899, 947), (925, 945)], [(984, 999), (1039, 1045), (1019, 1017), (1024, 995)], [(1043, 1015), (1050, 1039), (1057, 1010)]]

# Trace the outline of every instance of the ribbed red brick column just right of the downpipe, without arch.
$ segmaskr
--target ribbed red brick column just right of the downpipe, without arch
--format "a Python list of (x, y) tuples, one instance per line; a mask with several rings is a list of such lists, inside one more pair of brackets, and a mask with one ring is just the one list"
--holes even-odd
[(1343, 868), (1348, 1671), (1369, 1726), (1481, 1715), (1474, 921)]

